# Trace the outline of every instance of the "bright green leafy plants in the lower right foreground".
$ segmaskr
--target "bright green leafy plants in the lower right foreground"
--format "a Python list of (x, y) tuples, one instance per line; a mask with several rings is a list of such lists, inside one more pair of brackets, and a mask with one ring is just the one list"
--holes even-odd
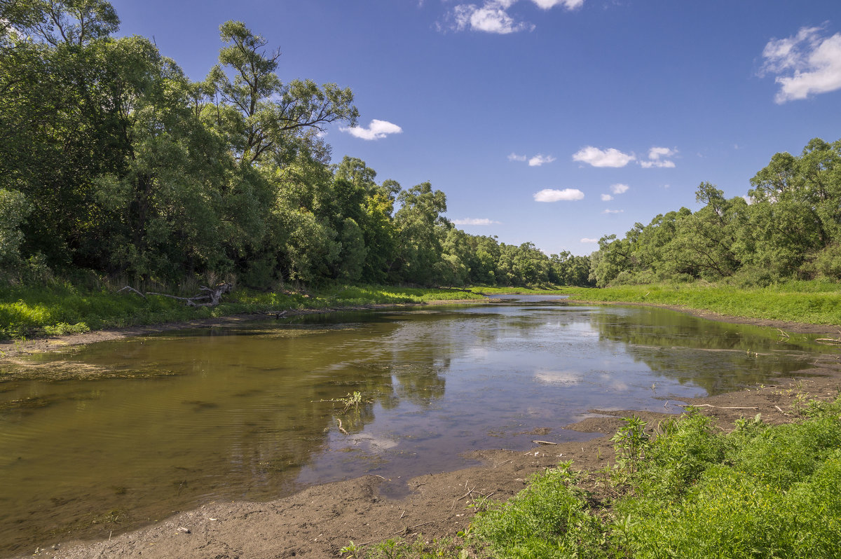
[(653, 438), (628, 418), (613, 438), (616, 467), (574, 472), (565, 462), (507, 503), (479, 503), (458, 538), (348, 546), (345, 556), (837, 558), (841, 397), (799, 413), (787, 425), (739, 419), (725, 434), (690, 412)]

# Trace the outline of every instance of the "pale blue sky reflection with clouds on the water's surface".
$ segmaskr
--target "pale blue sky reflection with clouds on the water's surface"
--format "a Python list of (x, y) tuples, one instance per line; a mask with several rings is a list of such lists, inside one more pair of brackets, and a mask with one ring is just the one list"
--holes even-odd
[[(459, 467), (463, 451), (532, 446), (535, 436), (528, 432), (536, 428), (551, 429), (543, 439), (580, 438), (561, 426), (589, 409), (664, 411), (669, 399), (738, 388), (743, 374), (756, 382), (755, 361), (739, 361), (746, 355), (742, 351), (697, 347), (703, 345), (699, 330), (711, 345), (725, 340), (729, 346), (729, 325), (716, 333), (722, 325), (670, 311), (642, 312), (648, 321), (640, 327), (645, 339), (657, 338), (660, 345), (638, 345), (632, 336), (617, 334), (640, 309), (500, 305), (442, 309), (424, 319), (405, 314), (399, 327), (376, 343), (391, 345), (397, 369), (406, 360), (414, 366), (426, 361), (446, 390), (424, 398), (406, 393), (395, 377), (395, 390), (413, 403), (375, 409), (365, 432), (372, 440), (399, 443), (389, 447), (387, 461), (367, 471), (405, 477)], [(799, 368), (780, 359), (766, 368), (773, 374), (791, 367)], [(331, 440), (331, 448), (343, 445), (359, 442)], [(302, 477), (324, 475), (332, 462), (331, 453), (320, 456)]]

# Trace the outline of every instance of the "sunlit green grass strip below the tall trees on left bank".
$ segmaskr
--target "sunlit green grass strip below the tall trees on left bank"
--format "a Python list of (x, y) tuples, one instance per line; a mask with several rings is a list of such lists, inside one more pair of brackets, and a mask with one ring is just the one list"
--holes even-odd
[(333, 285), (307, 293), (262, 293), (236, 289), (225, 296), (219, 306), (208, 309), (187, 307), (172, 298), (151, 295), (144, 299), (133, 293), (116, 293), (115, 289), (83, 288), (70, 283), (56, 283), (50, 287), (4, 287), (0, 290), (0, 339), (82, 333), (288, 309), (481, 298), (479, 293), (453, 289)]

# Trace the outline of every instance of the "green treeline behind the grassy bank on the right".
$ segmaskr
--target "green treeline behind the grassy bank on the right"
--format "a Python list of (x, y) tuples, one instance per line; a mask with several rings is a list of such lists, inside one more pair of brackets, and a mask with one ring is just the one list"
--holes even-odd
[(841, 140), (811, 140), (801, 156), (778, 153), (746, 197), (702, 182), (705, 206), (602, 237), (591, 279), (608, 284), (719, 280), (769, 285), (785, 278), (841, 279)]

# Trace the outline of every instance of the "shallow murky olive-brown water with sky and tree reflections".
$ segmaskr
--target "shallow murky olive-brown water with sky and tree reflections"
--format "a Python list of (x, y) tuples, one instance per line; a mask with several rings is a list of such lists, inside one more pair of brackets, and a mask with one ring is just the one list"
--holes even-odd
[[(468, 465), (463, 452), (529, 448), (537, 428), (588, 438), (561, 426), (589, 409), (662, 411), (823, 351), (664, 309), (553, 303), (310, 315), (32, 356), (108, 377), (0, 382), (0, 554), (365, 473), (399, 494)], [(353, 392), (365, 401), (346, 412), (322, 401)]]

